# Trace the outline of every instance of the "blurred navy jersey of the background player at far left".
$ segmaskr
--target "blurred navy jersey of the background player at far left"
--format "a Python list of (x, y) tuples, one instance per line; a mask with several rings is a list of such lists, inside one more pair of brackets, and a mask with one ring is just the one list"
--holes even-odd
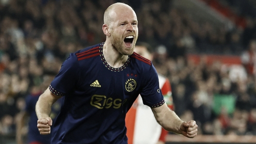
[[(32, 142), (40, 142), (41, 144), (50, 144), (51, 135), (41, 135), (37, 128), (37, 116), (35, 113), (35, 104), (42, 93), (31, 94), (26, 97), (25, 111), (30, 115), (29, 131), (28, 131), (28, 144)], [(59, 114), (61, 109), (61, 99), (56, 101), (51, 108), (51, 115), (53, 122)]]

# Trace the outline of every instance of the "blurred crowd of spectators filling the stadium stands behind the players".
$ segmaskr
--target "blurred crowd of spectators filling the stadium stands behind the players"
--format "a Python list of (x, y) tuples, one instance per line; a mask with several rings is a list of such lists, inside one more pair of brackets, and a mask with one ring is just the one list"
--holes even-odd
[[(104, 10), (117, 1), (137, 13), (138, 41), (155, 48), (153, 64), (170, 79), (177, 115), (195, 119), (199, 134), (256, 135), (255, 15), (244, 15), (244, 28), (215, 29), (172, 0), (0, 0), (0, 135), (15, 137), (24, 99), (33, 86), (46, 89), (44, 78), (69, 53), (105, 41)], [(232, 79), (220, 62), (194, 64), (189, 53), (242, 56), (245, 77)], [(226, 106), (216, 105), (222, 100)]]

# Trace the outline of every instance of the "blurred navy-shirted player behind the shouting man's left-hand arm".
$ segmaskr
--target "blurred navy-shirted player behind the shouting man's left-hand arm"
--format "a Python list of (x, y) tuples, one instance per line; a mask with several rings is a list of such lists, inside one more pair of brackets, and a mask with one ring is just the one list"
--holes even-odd
[[(18, 114), (16, 142), (17, 144), (50, 144), (51, 135), (41, 135), (38, 131), (35, 104), (43, 90), (48, 87), (54, 76), (44, 76), (44, 82), (40, 86), (32, 86), (31, 94), (26, 97), (26, 107)], [(54, 120), (60, 112), (62, 99), (56, 101), (51, 107), (50, 117)], [(27, 130), (28, 122), (28, 130)], [(27, 139), (27, 142), (26, 140)]]

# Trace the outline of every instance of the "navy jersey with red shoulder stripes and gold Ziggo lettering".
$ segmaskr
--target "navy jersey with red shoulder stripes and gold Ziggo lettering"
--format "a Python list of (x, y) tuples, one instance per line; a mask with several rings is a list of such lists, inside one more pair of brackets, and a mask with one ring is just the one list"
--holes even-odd
[(137, 96), (150, 107), (164, 103), (150, 60), (133, 53), (112, 68), (103, 44), (70, 54), (51, 82), (51, 92), (64, 96), (52, 144), (127, 144), (125, 116)]

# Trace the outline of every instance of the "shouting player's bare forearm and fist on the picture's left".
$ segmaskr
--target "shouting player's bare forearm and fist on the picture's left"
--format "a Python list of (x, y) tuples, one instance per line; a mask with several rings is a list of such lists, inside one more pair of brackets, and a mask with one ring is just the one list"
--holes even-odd
[(35, 105), (35, 112), (37, 115), (37, 128), (40, 134), (49, 134), (52, 119), (50, 118), (52, 104), (60, 99), (61, 96), (53, 94), (48, 88), (39, 97)]

